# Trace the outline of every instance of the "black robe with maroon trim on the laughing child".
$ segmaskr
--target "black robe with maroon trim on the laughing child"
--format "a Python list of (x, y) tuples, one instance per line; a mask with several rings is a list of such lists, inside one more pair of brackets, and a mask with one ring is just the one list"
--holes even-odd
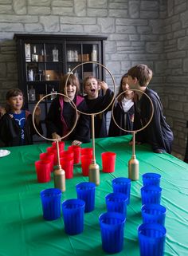
[[(84, 98), (76, 96), (73, 100), (78, 108), (82, 112), (87, 112), (87, 105)], [(65, 102), (62, 96), (57, 96), (49, 107), (49, 112), (45, 118), (45, 124), (47, 128), (47, 137), (52, 138), (52, 133), (57, 132), (59, 136), (66, 136), (66, 134), (72, 129), (72, 125), (75, 124), (76, 110), (69, 104), (69, 116), (65, 118), (64, 105)], [(65, 137), (65, 140), (80, 140), (81, 142), (90, 142), (90, 130), (89, 130), (89, 117), (84, 114), (78, 114), (79, 118), (76, 123), (76, 127)]]

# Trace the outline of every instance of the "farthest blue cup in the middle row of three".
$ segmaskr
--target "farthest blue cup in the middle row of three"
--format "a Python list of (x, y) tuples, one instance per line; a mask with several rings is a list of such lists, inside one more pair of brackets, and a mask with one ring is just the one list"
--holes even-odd
[(128, 203), (130, 203), (131, 179), (119, 177), (112, 179), (112, 187), (114, 193), (123, 193), (128, 196)]

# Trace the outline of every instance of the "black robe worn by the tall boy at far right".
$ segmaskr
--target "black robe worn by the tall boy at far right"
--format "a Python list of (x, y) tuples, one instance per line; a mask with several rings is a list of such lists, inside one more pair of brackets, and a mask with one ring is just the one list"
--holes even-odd
[[(174, 140), (173, 132), (170, 126), (166, 124), (166, 118), (163, 116), (163, 106), (157, 93), (151, 89), (144, 92), (150, 98), (154, 105), (154, 116), (151, 123), (143, 131), (137, 132), (135, 140), (141, 143), (151, 144), (153, 151), (156, 149), (171, 153), (171, 144)], [(143, 94), (140, 100), (135, 104), (134, 129), (145, 126), (151, 118), (151, 102)]]

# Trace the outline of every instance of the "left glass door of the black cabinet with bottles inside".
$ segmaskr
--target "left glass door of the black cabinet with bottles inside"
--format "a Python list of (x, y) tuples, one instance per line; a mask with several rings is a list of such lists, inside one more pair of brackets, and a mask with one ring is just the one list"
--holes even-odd
[(62, 44), (25, 43), (25, 77), (29, 102), (58, 91), (63, 72), (62, 50)]

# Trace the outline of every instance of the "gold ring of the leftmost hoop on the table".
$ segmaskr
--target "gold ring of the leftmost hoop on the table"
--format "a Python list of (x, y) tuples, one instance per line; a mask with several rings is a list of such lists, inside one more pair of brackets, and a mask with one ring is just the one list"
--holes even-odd
[(65, 136), (62, 136), (62, 137), (61, 137), (61, 140), (63, 140), (65, 137), (67, 137), (67, 136), (69, 136), (69, 134), (71, 134), (71, 132), (73, 131), (73, 129), (76, 127), (76, 123), (77, 123), (77, 120), (78, 120), (78, 113), (77, 113), (76, 105), (75, 105), (74, 102), (69, 98), (69, 96), (66, 96), (66, 95), (63, 94), (63, 93), (49, 93), (49, 94), (43, 96), (40, 100), (38, 100), (37, 104), (35, 105), (35, 107), (34, 107), (34, 109), (33, 109), (33, 116), (32, 116), (32, 118), (33, 118), (33, 127), (35, 128), (35, 131), (37, 132), (37, 134), (38, 134), (39, 136), (41, 136), (43, 139), (45, 139), (45, 140), (57, 141), (57, 139), (49, 139), (49, 138), (46, 138), (45, 136), (41, 135), (41, 133), (38, 132), (38, 130), (37, 130), (36, 126), (35, 126), (35, 123), (34, 123), (34, 114), (35, 114), (35, 111), (36, 111), (36, 109), (37, 109), (38, 104), (40, 104), (42, 100), (45, 100), (46, 97), (51, 96), (51, 95), (53, 95), (53, 96), (54, 96), (54, 95), (61, 95), (61, 96), (67, 97), (68, 100), (69, 100), (69, 102), (70, 102), (70, 104), (72, 104), (73, 108), (75, 108), (75, 111), (76, 111), (76, 120), (75, 120), (75, 123), (73, 124), (72, 129), (71, 129)]

